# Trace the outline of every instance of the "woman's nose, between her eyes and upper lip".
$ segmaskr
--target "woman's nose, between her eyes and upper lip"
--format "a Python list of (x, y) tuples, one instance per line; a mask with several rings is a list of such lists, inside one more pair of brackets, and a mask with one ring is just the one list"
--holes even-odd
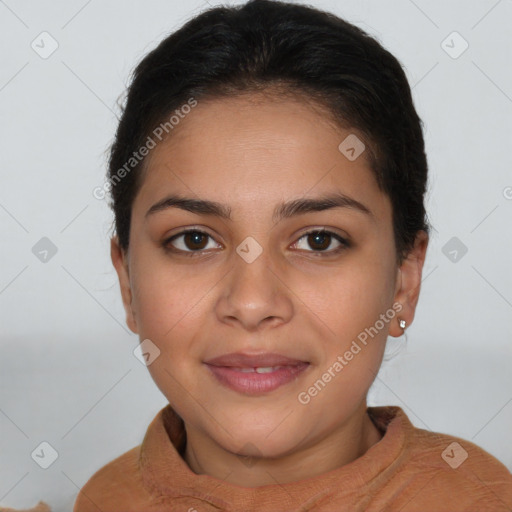
[(293, 294), (283, 273), (272, 265), (270, 252), (263, 249), (253, 261), (234, 253), (233, 260), (216, 304), (219, 321), (238, 324), (251, 332), (289, 322)]

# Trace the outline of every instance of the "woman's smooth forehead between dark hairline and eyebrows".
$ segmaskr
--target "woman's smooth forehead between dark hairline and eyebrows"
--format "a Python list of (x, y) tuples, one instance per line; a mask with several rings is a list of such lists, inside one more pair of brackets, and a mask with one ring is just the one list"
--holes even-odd
[(179, 192), (233, 205), (342, 192), (390, 213), (363, 151), (349, 160), (340, 151), (348, 137), (321, 106), (299, 98), (244, 95), (198, 101), (148, 155), (136, 205), (151, 206)]

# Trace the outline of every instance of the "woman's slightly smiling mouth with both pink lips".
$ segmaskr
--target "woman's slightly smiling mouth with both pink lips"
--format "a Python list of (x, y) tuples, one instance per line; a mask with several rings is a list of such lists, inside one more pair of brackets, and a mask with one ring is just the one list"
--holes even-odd
[(223, 386), (246, 395), (260, 395), (295, 381), (310, 366), (280, 354), (226, 354), (204, 363)]

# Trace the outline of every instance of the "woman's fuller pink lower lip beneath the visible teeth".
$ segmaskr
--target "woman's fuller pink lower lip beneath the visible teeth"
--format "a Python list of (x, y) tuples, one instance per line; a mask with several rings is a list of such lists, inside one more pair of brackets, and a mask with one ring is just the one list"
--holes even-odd
[(228, 366), (213, 366), (210, 364), (206, 366), (224, 386), (239, 393), (256, 395), (273, 391), (295, 380), (309, 367), (309, 363), (284, 366), (269, 373), (241, 372)]

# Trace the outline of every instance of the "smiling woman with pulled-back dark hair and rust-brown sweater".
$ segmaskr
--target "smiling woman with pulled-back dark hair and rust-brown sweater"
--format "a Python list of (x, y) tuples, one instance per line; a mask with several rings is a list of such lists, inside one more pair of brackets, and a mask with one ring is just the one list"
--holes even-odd
[(430, 226), (421, 121), (357, 27), (254, 0), (135, 70), (109, 162), (127, 324), (169, 401), (92, 510), (510, 510), (478, 446), (368, 407)]

